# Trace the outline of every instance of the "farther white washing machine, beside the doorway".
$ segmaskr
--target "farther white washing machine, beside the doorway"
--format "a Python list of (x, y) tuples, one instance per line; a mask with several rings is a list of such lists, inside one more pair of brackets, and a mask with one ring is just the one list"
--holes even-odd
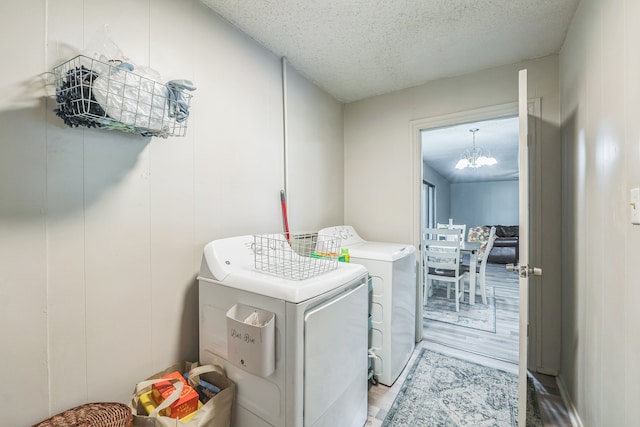
[(416, 249), (364, 240), (349, 225), (327, 227), (318, 235), (340, 237), (351, 262), (365, 266), (371, 275), (374, 373), (380, 383), (391, 386), (415, 348)]

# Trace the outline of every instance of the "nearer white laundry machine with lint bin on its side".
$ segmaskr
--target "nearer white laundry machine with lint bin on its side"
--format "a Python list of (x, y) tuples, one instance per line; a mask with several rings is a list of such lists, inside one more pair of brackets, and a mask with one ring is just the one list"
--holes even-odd
[[(198, 276), (200, 362), (223, 365), (237, 384), (233, 425), (363, 426), (366, 269), (338, 263), (315, 277), (284, 279), (254, 268), (253, 242), (253, 236), (210, 242)], [(239, 364), (228, 352), (228, 337), (240, 335), (227, 329), (228, 312), (237, 305), (275, 315), (273, 348), (262, 349), (273, 357), (272, 372), (250, 372), (241, 366), (244, 359)]]

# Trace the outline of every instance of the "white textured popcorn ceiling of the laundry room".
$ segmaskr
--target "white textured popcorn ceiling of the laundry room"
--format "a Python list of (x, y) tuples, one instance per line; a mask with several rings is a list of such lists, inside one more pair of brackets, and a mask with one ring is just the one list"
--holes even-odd
[(559, 52), (579, 0), (202, 0), (343, 102)]

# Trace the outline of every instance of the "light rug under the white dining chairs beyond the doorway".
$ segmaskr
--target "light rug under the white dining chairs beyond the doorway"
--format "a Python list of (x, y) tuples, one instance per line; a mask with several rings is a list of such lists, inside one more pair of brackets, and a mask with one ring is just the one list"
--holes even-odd
[[(446, 286), (433, 286), (433, 295), (427, 299), (423, 311), (424, 319), (496, 332), (496, 297), (493, 286), (487, 286), (487, 304), (482, 304), (482, 297), (476, 294), (476, 303), (469, 305), (467, 302), (460, 302), (460, 311), (456, 311), (453, 294), (452, 289), (451, 298), (447, 299)], [(467, 301), (468, 294), (464, 298)]]

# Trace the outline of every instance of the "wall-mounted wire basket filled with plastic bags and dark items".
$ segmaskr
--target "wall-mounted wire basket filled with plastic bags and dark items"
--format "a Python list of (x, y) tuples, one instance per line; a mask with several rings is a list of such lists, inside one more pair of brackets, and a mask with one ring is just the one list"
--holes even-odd
[(104, 62), (84, 55), (60, 64), (53, 69), (56, 114), (71, 127), (162, 138), (185, 136), (192, 95), (172, 82), (187, 81), (164, 84), (152, 78), (147, 68), (133, 69), (126, 62)]

